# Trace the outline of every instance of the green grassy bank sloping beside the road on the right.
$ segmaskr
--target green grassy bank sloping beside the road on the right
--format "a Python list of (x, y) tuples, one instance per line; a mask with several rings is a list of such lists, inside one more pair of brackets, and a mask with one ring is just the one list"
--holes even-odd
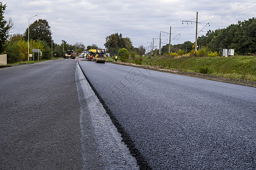
[(143, 65), (160, 66), (183, 72), (212, 74), (233, 79), (256, 81), (255, 56), (229, 57), (143, 57)]

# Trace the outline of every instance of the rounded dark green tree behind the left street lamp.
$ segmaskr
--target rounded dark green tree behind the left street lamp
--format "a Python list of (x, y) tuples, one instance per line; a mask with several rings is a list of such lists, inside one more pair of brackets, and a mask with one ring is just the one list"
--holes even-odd
[[(47, 20), (39, 19), (32, 23), (30, 26), (30, 40), (42, 40), (46, 41), (48, 46), (52, 44), (52, 33), (51, 27), (49, 26)], [(28, 40), (28, 28), (24, 33), (24, 40)]]

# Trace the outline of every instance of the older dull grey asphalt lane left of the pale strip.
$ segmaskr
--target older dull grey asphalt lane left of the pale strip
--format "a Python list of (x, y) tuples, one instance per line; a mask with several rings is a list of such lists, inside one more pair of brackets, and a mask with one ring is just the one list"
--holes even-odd
[(81, 169), (76, 62), (0, 69), (0, 169)]

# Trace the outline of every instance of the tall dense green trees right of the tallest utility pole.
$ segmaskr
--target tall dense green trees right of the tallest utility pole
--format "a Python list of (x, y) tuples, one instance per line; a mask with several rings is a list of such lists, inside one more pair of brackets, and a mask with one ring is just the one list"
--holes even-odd
[(198, 38), (197, 44), (208, 46), (211, 51), (220, 48), (234, 49), (238, 54), (256, 53), (256, 19), (251, 18), (224, 29), (208, 31)]

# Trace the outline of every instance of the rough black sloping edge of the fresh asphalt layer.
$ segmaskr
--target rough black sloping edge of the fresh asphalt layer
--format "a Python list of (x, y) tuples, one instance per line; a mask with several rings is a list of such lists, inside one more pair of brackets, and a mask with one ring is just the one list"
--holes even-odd
[[(79, 67), (81, 68), (79, 62), (78, 62)], [(82, 70), (82, 68), (81, 68)], [(106, 113), (108, 113), (110, 119), (112, 120), (113, 124), (117, 128), (117, 131), (121, 134), (122, 141), (127, 145), (127, 147), (130, 150), (131, 155), (135, 157), (137, 160), (137, 163), (139, 165), (139, 169), (152, 169), (150, 165), (146, 162), (146, 159), (144, 159), (144, 156), (141, 154), (141, 152), (135, 147), (133, 141), (130, 138), (130, 135), (126, 132), (126, 130), (122, 127), (122, 125), (119, 123), (117, 118), (112, 114), (108, 106), (105, 104), (105, 101), (101, 99), (100, 94), (98, 94), (97, 90), (93, 87), (92, 83), (90, 80), (87, 78), (85, 75), (84, 71), (82, 70), (82, 74), (84, 74), (85, 79), (88, 81), (90, 87), (92, 88), (93, 92), (95, 95), (98, 97), (98, 100), (100, 100), (100, 103), (103, 105), (104, 109), (106, 110)]]

